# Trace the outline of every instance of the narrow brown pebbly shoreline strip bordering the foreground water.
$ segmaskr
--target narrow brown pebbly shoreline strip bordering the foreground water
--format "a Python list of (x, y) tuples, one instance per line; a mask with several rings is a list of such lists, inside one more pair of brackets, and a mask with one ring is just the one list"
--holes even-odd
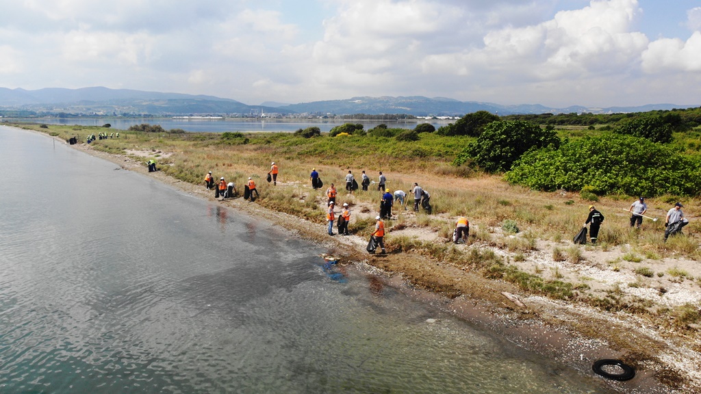
[[(54, 138), (64, 143), (60, 138)], [(213, 198), (212, 192), (205, 191), (202, 185), (189, 184), (160, 171), (149, 173), (147, 168), (132, 157), (108, 154), (84, 144), (72, 147), (115, 163), (125, 170), (154, 177), (190, 195), (219, 203)], [(690, 353), (693, 349), (679, 348), (672, 341), (667, 341), (667, 338), (660, 337), (660, 333), (646, 327), (646, 322), (637, 316), (617, 316), (587, 306), (576, 306), (574, 303), (553, 301), (540, 296), (522, 296), (526, 308), (520, 308), (501, 294), (520, 293), (517, 287), (510, 283), (488, 280), (465, 269), (413, 253), (368, 256), (365, 253), (366, 241), (359, 236), (329, 238), (325, 235), (324, 226), (320, 224), (300, 220), (299, 217), (270, 210), (255, 203), (247, 203), (240, 198), (227, 200), (223, 205), (248, 215), (264, 217), (295, 231), (302, 238), (334, 250), (334, 254), (343, 256), (344, 261), (349, 261), (348, 264), (358, 269), (378, 270), (383, 273), (384, 280), (389, 285), (402, 292), (435, 304), (451, 315), (503, 336), (528, 351), (535, 351), (573, 367), (579, 373), (593, 375), (591, 365), (594, 360), (600, 358), (639, 360), (639, 364), (636, 365), (637, 376), (632, 381), (606, 381), (607, 386), (613, 390), (627, 393), (701, 392), (701, 388), (692, 386), (693, 376), (681, 374), (683, 371), (679, 371), (680, 362), (674, 358), (674, 355), (678, 355), (678, 358), (686, 358), (687, 362), (695, 362), (688, 369), (698, 373), (701, 370), (698, 367), (701, 365), (700, 356)], [(417, 285), (423, 288), (419, 289)], [(461, 295), (454, 297), (456, 294)], [(627, 332), (625, 338), (615, 334), (619, 330)], [(627, 339), (634, 339), (639, 343), (633, 344), (628, 341), (626, 344)], [(658, 348), (668, 349), (667, 354), (658, 355), (659, 359), (653, 360), (648, 353)], [(683, 363), (681, 365), (683, 367)]]

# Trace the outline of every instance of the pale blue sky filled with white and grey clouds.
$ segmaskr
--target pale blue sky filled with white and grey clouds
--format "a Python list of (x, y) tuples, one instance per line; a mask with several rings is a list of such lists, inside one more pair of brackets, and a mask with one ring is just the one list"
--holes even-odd
[(701, 104), (701, 0), (0, 0), (0, 87)]

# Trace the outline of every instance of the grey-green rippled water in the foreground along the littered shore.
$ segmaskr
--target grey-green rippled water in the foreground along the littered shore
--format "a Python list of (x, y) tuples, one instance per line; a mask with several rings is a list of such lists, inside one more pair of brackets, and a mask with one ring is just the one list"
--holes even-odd
[(46, 136), (0, 126), (0, 168), (0, 393), (608, 393)]

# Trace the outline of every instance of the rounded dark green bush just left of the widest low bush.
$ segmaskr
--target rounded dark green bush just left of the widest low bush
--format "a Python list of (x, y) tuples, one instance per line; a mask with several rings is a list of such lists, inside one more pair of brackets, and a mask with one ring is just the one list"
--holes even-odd
[(484, 127), (477, 140), (470, 142), (455, 158), (454, 165), (462, 165), (472, 158), (475, 164), (489, 172), (506, 171), (526, 151), (552, 145), (560, 140), (554, 130), (543, 130), (525, 121), (499, 121)]

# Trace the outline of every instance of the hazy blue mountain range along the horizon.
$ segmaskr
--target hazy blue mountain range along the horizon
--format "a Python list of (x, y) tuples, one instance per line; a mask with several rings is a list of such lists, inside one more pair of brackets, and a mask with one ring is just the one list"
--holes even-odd
[(565, 108), (545, 107), (540, 104), (501, 105), (491, 102), (462, 102), (445, 97), (352, 97), (347, 100), (327, 100), (299, 104), (264, 102), (247, 105), (236, 100), (208, 95), (159, 93), (130, 89), (102, 87), (39, 90), (0, 88), (0, 115), (3, 111), (35, 111), (39, 114), (80, 115), (138, 115), (154, 116), (248, 116), (251, 114), (408, 114), (414, 116), (463, 116), (475, 111), (489, 111), (498, 115), (510, 114), (571, 114), (590, 112), (607, 114), (641, 112), (658, 109), (690, 108), (695, 105), (649, 104), (641, 107)]

